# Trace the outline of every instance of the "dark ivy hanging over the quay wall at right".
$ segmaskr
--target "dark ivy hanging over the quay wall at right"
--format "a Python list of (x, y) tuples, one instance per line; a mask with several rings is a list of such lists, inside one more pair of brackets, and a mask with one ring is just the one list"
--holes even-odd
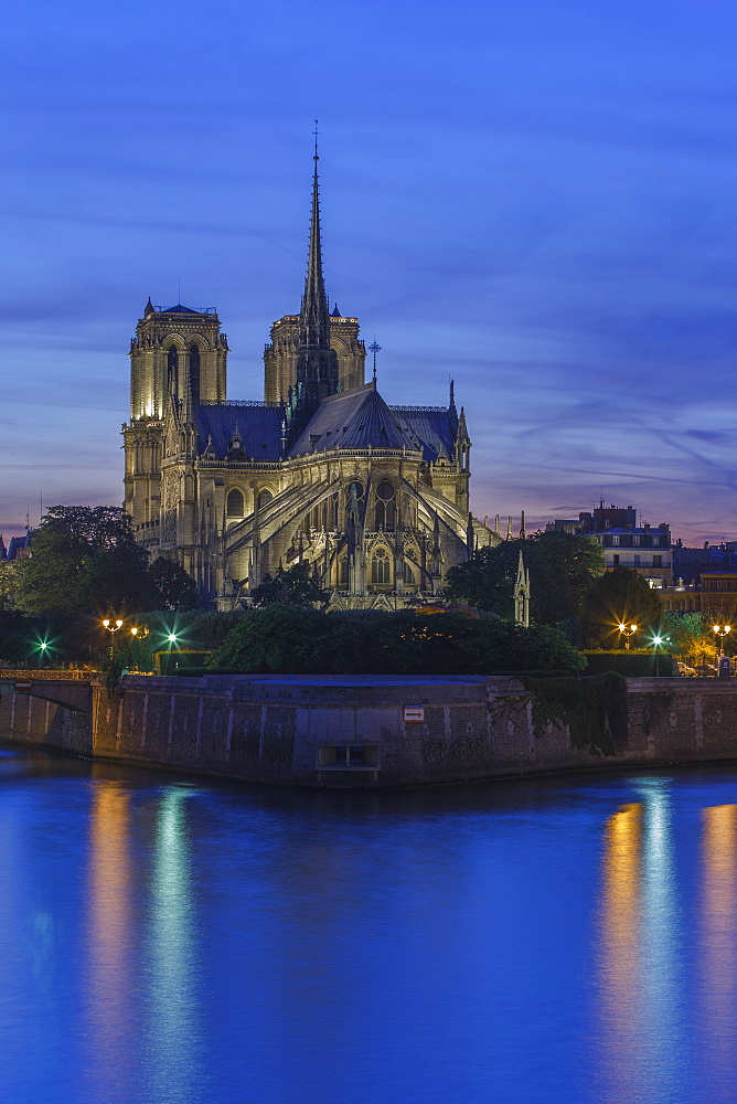
[(537, 739), (548, 724), (568, 725), (570, 743), (590, 755), (616, 755), (627, 746), (627, 683), (620, 675), (523, 680), (532, 699)]

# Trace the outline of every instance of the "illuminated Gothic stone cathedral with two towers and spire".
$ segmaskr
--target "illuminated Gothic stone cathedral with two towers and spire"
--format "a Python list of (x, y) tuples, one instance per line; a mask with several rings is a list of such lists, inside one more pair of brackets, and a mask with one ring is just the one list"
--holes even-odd
[(150, 299), (130, 347), (125, 506), (203, 601), (247, 605), (264, 575), (308, 561), (331, 608), (396, 609), (500, 540), (469, 513), (452, 384), (447, 406), (387, 406), (364, 382), (357, 319), (330, 314), (317, 149), (305, 294), (271, 327), (263, 402), (227, 397), (227, 352), (214, 311)]

